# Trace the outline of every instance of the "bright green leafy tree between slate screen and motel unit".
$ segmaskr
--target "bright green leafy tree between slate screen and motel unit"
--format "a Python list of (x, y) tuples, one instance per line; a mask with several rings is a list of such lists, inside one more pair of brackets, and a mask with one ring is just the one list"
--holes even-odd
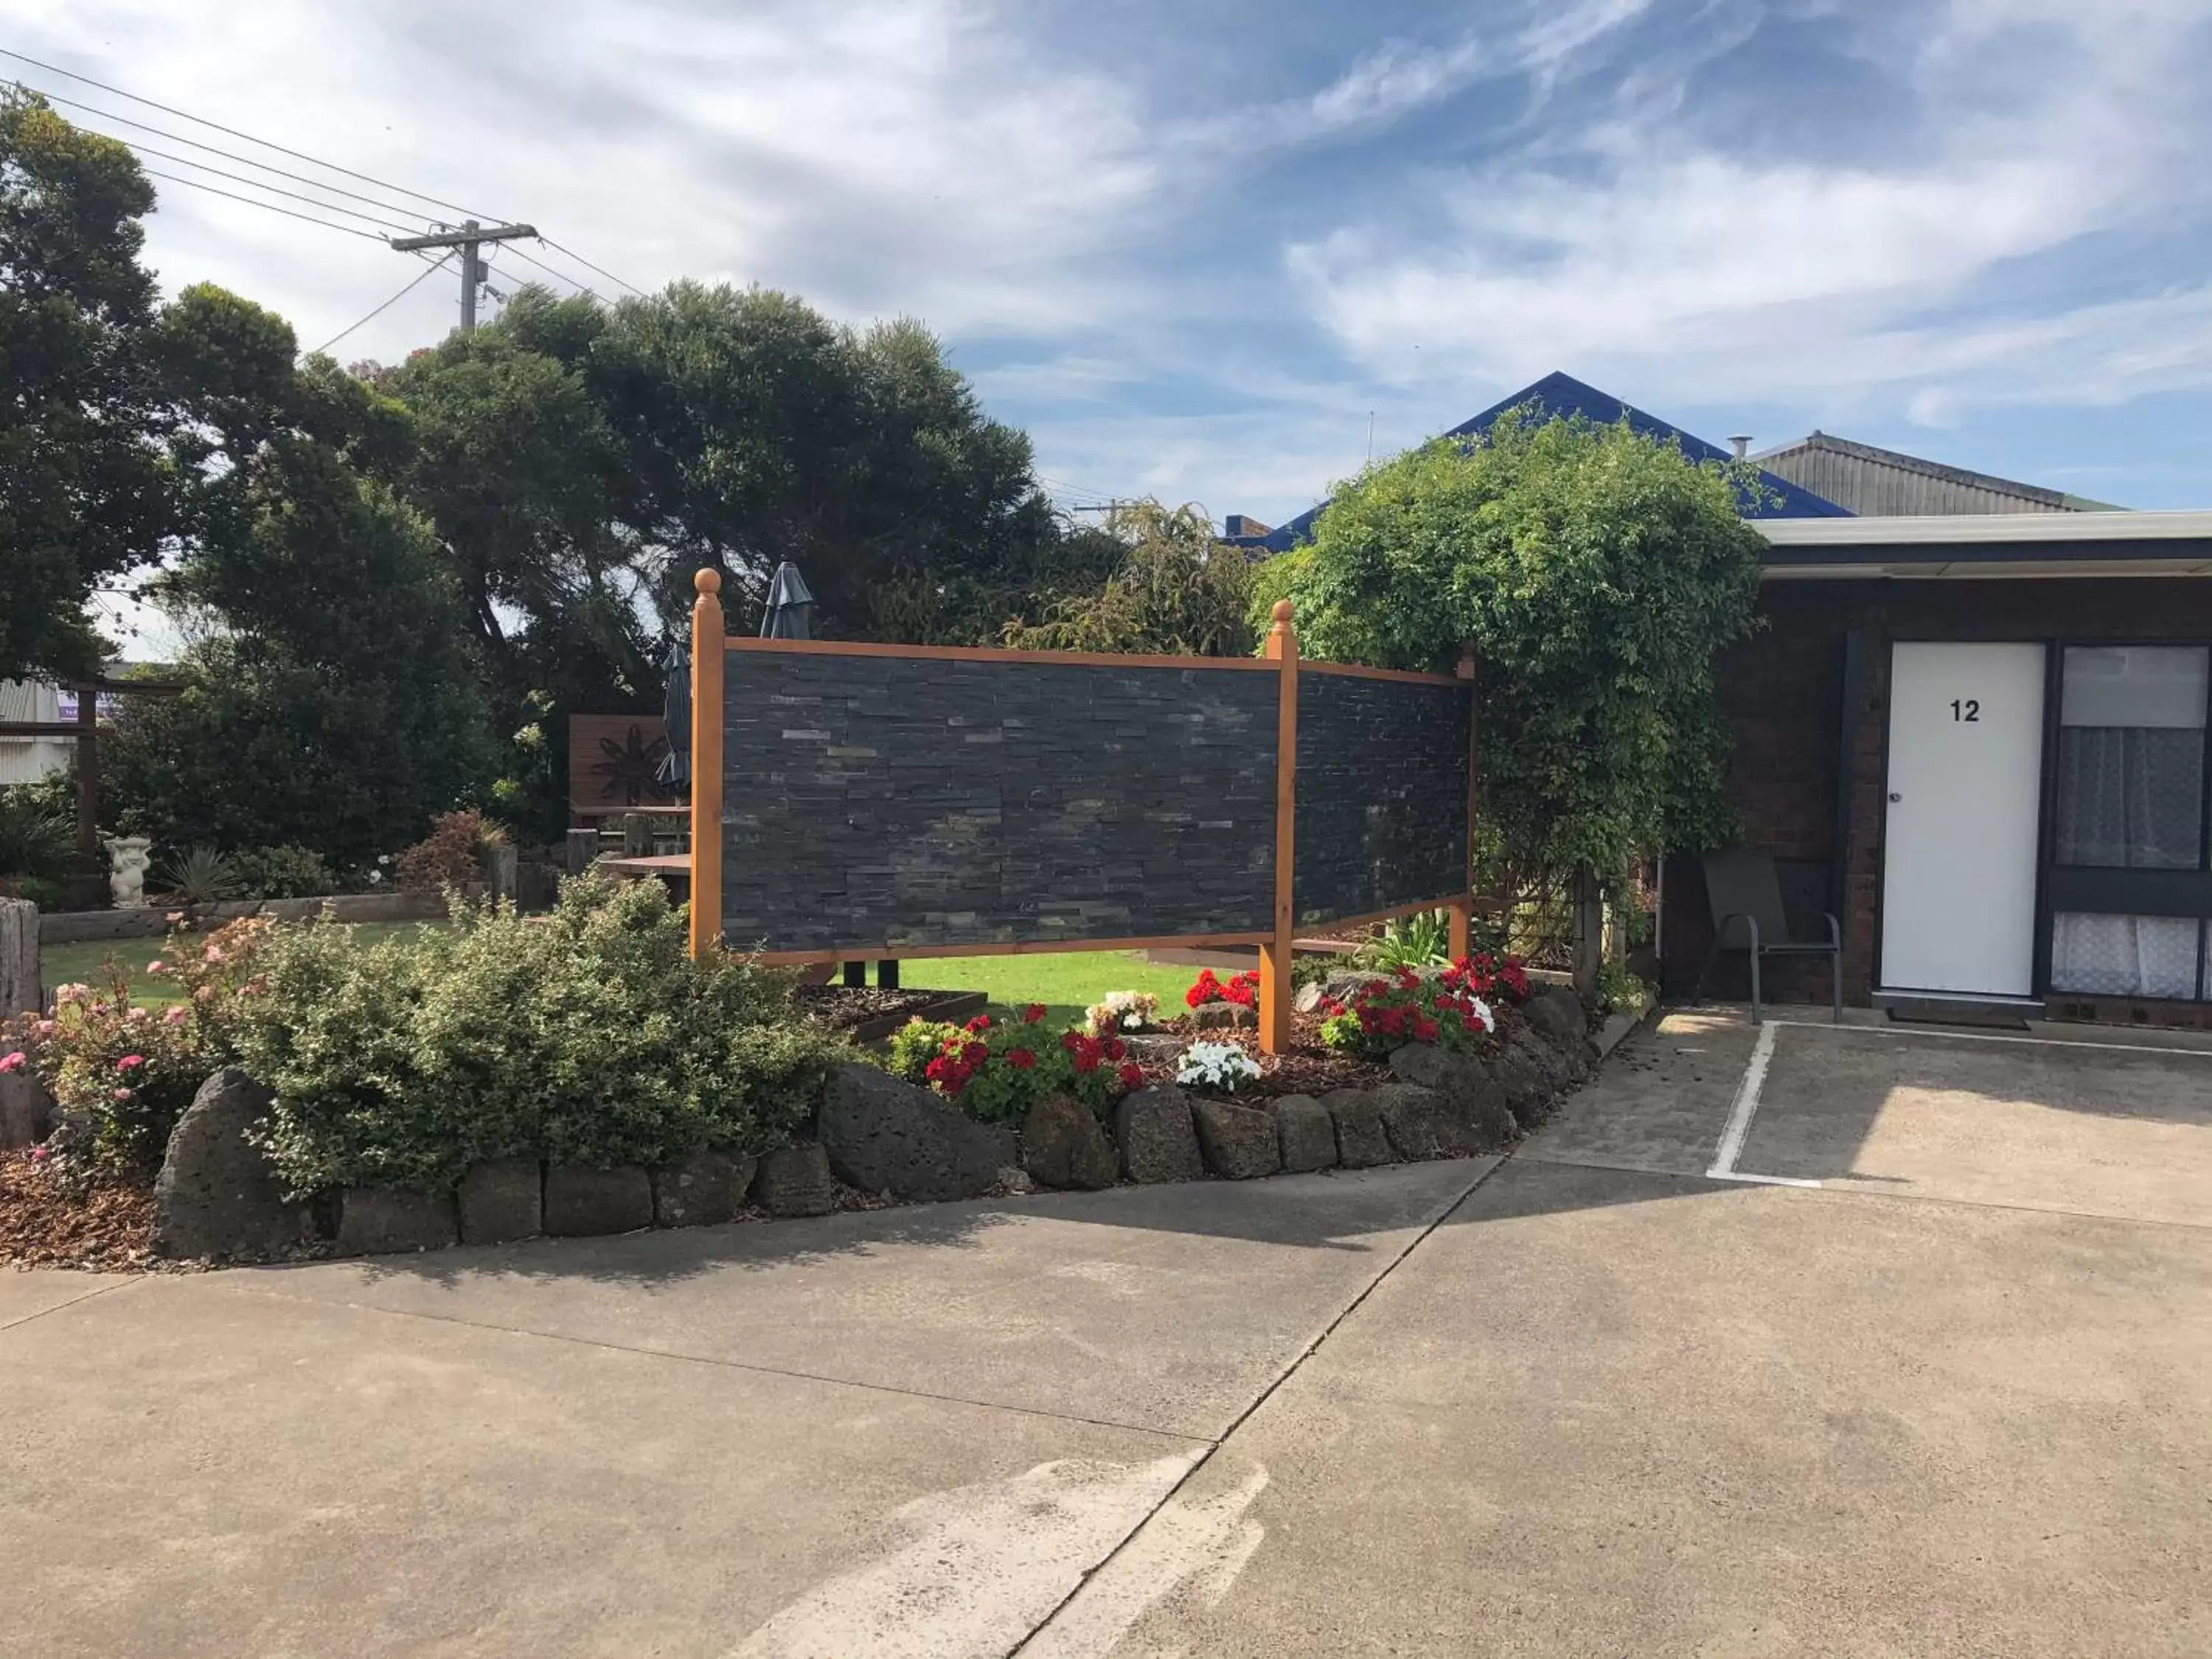
[(1736, 469), (1626, 425), (1502, 418), (1347, 484), (1259, 584), (1301, 650), (1442, 670), (1482, 653), (1482, 810), (1515, 867), (1615, 880), (1730, 834), (1714, 655), (1752, 628)]

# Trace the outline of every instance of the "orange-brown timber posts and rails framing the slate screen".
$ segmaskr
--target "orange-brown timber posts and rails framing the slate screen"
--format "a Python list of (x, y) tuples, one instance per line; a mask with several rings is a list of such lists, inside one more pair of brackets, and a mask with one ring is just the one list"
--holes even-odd
[[(1447, 849), (1449, 867), (1458, 880), (1449, 891), (1422, 894), (1416, 900), (1389, 902), (1356, 916), (1294, 914), (1294, 830), (1296, 830), (1296, 757), (1298, 757), (1298, 641), (1292, 630), (1290, 602), (1274, 606), (1274, 626), (1267, 630), (1265, 657), (1135, 657), (1135, 655), (1088, 655), (1064, 650), (975, 650), (956, 646), (891, 646), (858, 641), (814, 641), (814, 639), (743, 639), (728, 637), (721, 613), (721, 577), (714, 571), (699, 571), (695, 577), (697, 602), (692, 606), (692, 801), (690, 801), (690, 949), (692, 956), (708, 956), (723, 949), (723, 732), (726, 732), (726, 668), (734, 653), (763, 653), (794, 657), (883, 657), (905, 661), (956, 661), (956, 664), (1015, 664), (1015, 666), (1077, 666), (1126, 672), (1133, 668), (1170, 668), (1186, 672), (1223, 675), (1272, 675), (1274, 692), (1274, 869), (1272, 869), (1272, 916), (1265, 927), (1245, 931), (1190, 931), (1164, 936), (1082, 936), (1044, 940), (989, 940), (989, 942), (929, 942), (929, 940), (880, 940), (856, 938), (834, 949), (776, 949), (774, 940), (763, 940), (765, 949), (757, 960), (772, 964), (796, 962), (849, 962), (863, 958), (927, 958), (927, 956), (1015, 956), (1031, 951), (1110, 951), (1144, 947), (1259, 947), (1261, 993), (1259, 993), (1259, 1040), (1267, 1053), (1290, 1046), (1290, 958), (1292, 931), (1296, 925), (1354, 925), (1378, 922), (1394, 916), (1444, 909), (1451, 918), (1451, 956), (1467, 953), (1467, 931), (1473, 911), (1469, 876), (1473, 867), (1475, 830), (1475, 695), (1473, 655), (1460, 661), (1458, 675), (1409, 675), (1389, 668), (1354, 668), (1347, 664), (1307, 661), (1310, 675), (1345, 675), (1352, 679), (1400, 681), (1407, 686), (1451, 686), (1467, 699), (1467, 799), (1464, 838), (1453, 836), (1455, 847)], [(1458, 717), (1453, 714), (1453, 730)], [(1455, 757), (1453, 757), (1455, 759)], [(1458, 805), (1458, 803), (1453, 803)]]

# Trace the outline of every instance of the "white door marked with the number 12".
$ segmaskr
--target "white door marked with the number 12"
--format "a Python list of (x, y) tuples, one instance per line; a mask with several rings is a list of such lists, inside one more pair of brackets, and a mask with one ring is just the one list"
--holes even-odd
[(2024, 998), (2035, 975), (2044, 648), (1893, 653), (1882, 989)]

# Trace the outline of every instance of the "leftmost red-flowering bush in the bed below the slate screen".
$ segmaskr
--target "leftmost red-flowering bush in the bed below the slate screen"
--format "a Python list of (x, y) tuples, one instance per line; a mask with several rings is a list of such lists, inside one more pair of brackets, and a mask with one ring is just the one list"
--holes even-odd
[(1006, 1022), (987, 1013), (964, 1026), (909, 1020), (891, 1037), (891, 1071), (929, 1084), (989, 1124), (1018, 1119), (1046, 1095), (1068, 1095), (1104, 1113), (1144, 1086), (1144, 1071), (1119, 1037), (1093, 1037), (1082, 1029), (1055, 1037), (1044, 1029), (1044, 1004)]

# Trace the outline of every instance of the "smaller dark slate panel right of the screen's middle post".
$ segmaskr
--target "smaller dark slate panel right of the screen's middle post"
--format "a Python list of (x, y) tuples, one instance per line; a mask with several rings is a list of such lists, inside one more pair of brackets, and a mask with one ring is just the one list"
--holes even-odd
[(1298, 672), (1301, 927), (1467, 891), (1467, 686)]

